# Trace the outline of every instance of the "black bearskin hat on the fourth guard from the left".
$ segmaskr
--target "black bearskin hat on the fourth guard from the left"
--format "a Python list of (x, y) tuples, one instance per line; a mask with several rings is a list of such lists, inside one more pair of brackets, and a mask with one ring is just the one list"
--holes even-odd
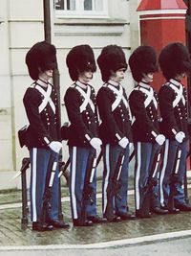
[(141, 81), (142, 74), (158, 71), (157, 54), (151, 46), (139, 46), (129, 58), (129, 66), (135, 81)]

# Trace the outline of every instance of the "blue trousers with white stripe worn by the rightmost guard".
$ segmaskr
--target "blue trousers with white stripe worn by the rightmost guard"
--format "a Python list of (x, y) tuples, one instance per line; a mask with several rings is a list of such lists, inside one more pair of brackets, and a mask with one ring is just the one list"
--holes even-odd
[(163, 165), (159, 175), (159, 195), (160, 204), (165, 206), (168, 203), (170, 193), (170, 176), (176, 165), (177, 151), (180, 149), (180, 165), (178, 170), (178, 182), (176, 186), (176, 195), (174, 197), (175, 205), (185, 203), (184, 190), (182, 188), (184, 175), (186, 171), (186, 153), (187, 141), (178, 143), (177, 141), (166, 140), (164, 146)]

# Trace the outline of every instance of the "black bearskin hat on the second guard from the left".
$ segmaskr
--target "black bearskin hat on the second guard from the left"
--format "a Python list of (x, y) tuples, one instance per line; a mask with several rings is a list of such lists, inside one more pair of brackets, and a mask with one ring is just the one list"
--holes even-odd
[(70, 77), (78, 80), (79, 73), (91, 70), (96, 72), (96, 61), (93, 49), (88, 44), (76, 45), (66, 58)]

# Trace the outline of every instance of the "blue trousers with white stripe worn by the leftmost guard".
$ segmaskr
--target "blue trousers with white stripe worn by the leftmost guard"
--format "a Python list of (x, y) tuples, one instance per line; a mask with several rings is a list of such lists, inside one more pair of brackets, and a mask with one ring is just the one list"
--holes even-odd
[[(43, 209), (43, 196), (45, 192), (46, 177), (50, 160), (54, 159), (53, 186), (51, 188), (51, 209), (47, 213), (50, 220), (58, 220), (59, 206), (59, 180), (58, 180), (58, 154), (52, 150), (36, 149), (30, 150), (31, 158), (31, 220), (41, 221)], [(52, 170), (51, 170), (52, 171)]]

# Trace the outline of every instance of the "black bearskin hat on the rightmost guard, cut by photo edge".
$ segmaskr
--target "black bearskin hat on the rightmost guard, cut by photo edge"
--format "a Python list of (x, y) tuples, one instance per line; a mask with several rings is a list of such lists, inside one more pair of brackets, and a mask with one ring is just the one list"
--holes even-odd
[(159, 66), (166, 80), (191, 70), (191, 59), (187, 48), (180, 42), (166, 45), (159, 54)]

